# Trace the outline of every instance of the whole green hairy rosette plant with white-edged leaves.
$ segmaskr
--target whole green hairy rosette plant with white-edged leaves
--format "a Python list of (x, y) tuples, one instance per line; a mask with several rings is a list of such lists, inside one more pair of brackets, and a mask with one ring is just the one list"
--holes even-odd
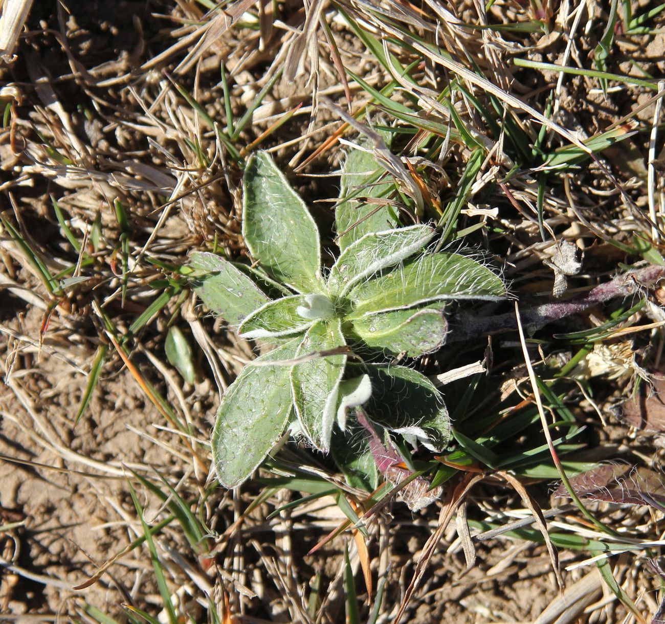
[[(342, 193), (366, 182), (368, 170), (376, 170), (372, 156), (352, 152)], [(369, 193), (389, 186), (370, 184)], [(366, 436), (350, 409), (360, 404), (382, 435), (444, 450), (450, 419), (440, 393), (388, 356), (436, 351), (446, 340), (448, 302), (501, 299), (501, 278), (459, 253), (424, 251), (430, 226), (397, 227), (387, 204), (376, 210), (350, 200), (336, 208), (340, 254), (325, 276), (317, 225), (267, 153), (249, 158), (243, 192), (243, 237), (255, 268), (213, 253), (194, 253), (190, 264), (194, 289), (213, 313), (242, 337), (275, 345), (221, 400), (211, 440), (219, 482), (241, 484), (288, 427), (332, 450), (350, 481), (375, 487)]]

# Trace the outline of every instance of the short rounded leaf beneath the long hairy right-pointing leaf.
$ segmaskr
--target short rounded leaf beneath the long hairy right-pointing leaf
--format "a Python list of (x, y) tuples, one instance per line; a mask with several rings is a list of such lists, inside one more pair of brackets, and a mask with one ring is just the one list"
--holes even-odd
[(418, 357), (442, 347), (448, 321), (440, 309), (410, 308), (356, 319), (353, 331), (369, 347)]

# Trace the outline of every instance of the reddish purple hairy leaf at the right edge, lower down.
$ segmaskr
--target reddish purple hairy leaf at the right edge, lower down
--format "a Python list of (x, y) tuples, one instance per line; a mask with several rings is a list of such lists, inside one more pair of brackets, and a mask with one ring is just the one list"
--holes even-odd
[[(600, 464), (570, 479), (577, 496), (626, 505), (665, 508), (665, 485), (658, 472), (630, 464)], [(554, 496), (568, 497), (562, 484)]]

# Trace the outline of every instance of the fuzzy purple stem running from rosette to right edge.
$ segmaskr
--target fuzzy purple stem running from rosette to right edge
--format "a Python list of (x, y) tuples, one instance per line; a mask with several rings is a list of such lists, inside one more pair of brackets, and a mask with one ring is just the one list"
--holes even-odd
[[(533, 330), (540, 329), (547, 323), (583, 312), (598, 303), (614, 299), (614, 297), (630, 297), (644, 285), (653, 284), (664, 275), (665, 267), (657, 265), (648, 265), (636, 271), (617, 275), (614, 279), (598, 285), (584, 295), (573, 297), (573, 299), (543, 303), (542, 305), (521, 309), (519, 313), (522, 324)], [(484, 318), (460, 317), (455, 325), (451, 325), (447, 342), (469, 340), (514, 329), (517, 329), (517, 321), (513, 312)]]

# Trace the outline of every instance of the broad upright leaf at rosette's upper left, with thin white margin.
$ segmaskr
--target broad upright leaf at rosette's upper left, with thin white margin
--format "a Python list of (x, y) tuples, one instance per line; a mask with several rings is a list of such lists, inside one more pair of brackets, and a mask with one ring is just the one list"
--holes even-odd
[(296, 291), (323, 291), (317, 225), (267, 152), (247, 161), (243, 190), (243, 237), (251, 255)]

